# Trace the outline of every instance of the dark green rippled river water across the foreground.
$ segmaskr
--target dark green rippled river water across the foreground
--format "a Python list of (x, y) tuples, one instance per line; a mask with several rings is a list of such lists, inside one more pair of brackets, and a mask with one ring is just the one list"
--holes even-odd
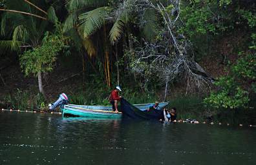
[(256, 129), (0, 111), (0, 164), (255, 164)]

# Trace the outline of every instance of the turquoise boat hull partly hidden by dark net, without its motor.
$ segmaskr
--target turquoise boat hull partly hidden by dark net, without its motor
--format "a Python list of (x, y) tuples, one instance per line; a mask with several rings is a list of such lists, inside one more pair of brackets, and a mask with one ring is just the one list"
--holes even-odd
[[(162, 110), (167, 106), (168, 102), (160, 102), (158, 107)], [(147, 110), (154, 103), (149, 104), (134, 104), (134, 106), (141, 111)], [(112, 106), (87, 106), (87, 105), (76, 105), (67, 104), (61, 108), (63, 116), (74, 116), (74, 117), (92, 117), (92, 118), (111, 118), (118, 119), (122, 117), (122, 112), (112, 112)]]

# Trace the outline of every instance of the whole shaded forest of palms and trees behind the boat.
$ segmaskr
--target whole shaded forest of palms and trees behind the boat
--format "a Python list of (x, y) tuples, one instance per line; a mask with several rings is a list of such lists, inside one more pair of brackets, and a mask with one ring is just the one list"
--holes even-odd
[(45, 110), (63, 92), (107, 105), (120, 84), (131, 103), (168, 101), (182, 118), (255, 122), (255, 7), (1, 0), (1, 105)]

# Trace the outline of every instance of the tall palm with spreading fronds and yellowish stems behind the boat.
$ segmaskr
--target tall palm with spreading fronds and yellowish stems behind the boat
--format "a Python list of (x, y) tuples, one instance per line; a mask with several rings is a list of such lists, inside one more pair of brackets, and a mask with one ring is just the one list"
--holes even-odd
[[(75, 28), (86, 44), (89, 43), (87, 41), (93, 34), (103, 31), (105, 79), (108, 86), (111, 86), (109, 43), (112, 45), (118, 43), (122, 35), (126, 33), (129, 38), (129, 49), (133, 49), (132, 39), (130, 38), (130, 34), (133, 32), (129, 28), (131, 25), (137, 26), (137, 24), (140, 24), (138, 28), (142, 30), (144, 37), (149, 40), (153, 39), (158, 33), (158, 14), (151, 8), (138, 12), (135, 8), (138, 3), (143, 2), (139, 0), (70, 0), (67, 4), (69, 16), (64, 25), (66, 32)], [(109, 26), (110, 24), (111, 26)], [(107, 34), (107, 31), (109, 31), (109, 34)], [(91, 46), (93, 45), (91, 44)], [(87, 46), (87, 52), (91, 46)], [(117, 69), (119, 69), (118, 66)]]

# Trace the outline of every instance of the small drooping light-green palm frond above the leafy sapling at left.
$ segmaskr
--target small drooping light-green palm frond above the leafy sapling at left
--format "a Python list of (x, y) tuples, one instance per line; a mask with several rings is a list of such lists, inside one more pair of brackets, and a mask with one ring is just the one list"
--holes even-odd
[(23, 25), (18, 25), (16, 28), (14, 28), (14, 34), (12, 34), (12, 41), (14, 43), (16, 41), (25, 42), (28, 37), (27, 29)]

